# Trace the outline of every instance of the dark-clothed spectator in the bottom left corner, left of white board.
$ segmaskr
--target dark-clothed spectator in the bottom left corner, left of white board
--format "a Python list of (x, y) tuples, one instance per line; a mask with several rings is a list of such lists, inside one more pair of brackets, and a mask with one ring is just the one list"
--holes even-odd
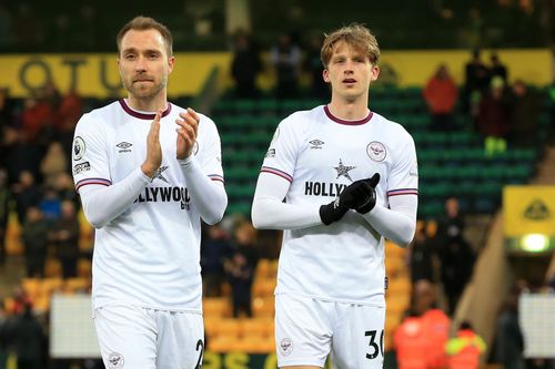
[(31, 304), (26, 304), (23, 314), (13, 325), (13, 339), (18, 369), (43, 369), (44, 332), (39, 320), (32, 314)]

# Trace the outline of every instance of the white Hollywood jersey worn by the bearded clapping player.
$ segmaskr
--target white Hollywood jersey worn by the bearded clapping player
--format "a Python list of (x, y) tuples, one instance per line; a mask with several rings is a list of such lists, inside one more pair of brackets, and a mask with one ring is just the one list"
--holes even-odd
[[(93, 254), (93, 308), (135, 305), (200, 312), (200, 216), (176, 161), (175, 120), (184, 109), (168, 103), (161, 117), (162, 165), (152, 182), (121, 215), (97, 229)], [(199, 114), (193, 148), (204, 173), (223, 182), (220, 136)], [(72, 154), (75, 189), (110, 186), (141, 166), (154, 114), (133, 111), (120, 100), (84, 114)]]

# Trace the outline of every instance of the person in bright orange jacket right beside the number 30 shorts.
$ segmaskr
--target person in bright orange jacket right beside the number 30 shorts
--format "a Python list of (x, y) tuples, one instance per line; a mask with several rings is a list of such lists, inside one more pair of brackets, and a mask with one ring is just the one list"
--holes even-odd
[(398, 369), (427, 369), (424, 355), (427, 340), (424, 325), (416, 311), (410, 310), (397, 327), (393, 336), (393, 346)]

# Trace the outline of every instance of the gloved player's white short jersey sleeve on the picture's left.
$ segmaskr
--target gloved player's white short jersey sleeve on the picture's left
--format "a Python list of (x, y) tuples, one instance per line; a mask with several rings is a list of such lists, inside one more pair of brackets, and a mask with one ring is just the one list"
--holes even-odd
[(283, 120), (274, 132), (261, 172), (272, 173), (293, 182), (297, 157), (297, 137), (289, 119)]

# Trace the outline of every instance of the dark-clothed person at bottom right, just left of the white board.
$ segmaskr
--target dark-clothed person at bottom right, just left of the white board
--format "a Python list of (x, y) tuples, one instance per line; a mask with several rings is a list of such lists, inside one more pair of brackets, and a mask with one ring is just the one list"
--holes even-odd
[(518, 324), (518, 298), (522, 285), (515, 284), (506, 297), (497, 318), (495, 335), (496, 362), (505, 369), (525, 369), (524, 337)]

